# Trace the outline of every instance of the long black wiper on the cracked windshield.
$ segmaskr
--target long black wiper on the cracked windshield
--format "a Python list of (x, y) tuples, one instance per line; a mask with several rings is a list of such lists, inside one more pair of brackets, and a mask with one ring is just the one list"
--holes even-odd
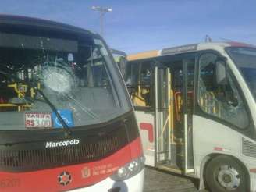
[(3, 71), (0, 70), (0, 73), (2, 75), (5, 75), (7, 77), (12, 77), (13, 79), (17, 80), (20, 83), (23, 84), (27, 84), (28, 87), (30, 88), (34, 88), (39, 94), (41, 94), (41, 96), (44, 98), (44, 101), (49, 105), (49, 107), (52, 109), (52, 112), (55, 113), (55, 116), (58, 118), (59, 122), (62, 123), (63, 129), (65, 130), (65, 136), (69, 136), (71, 135), (71, 130), (69, 129), (69, 126), (66, 124), (66, 122), (62, 119), (62, 116), (59, 114), (57, 108), (55, 107), (55, 105), (52, 104), (52, 102), (46, 97), (46, 95), (44, 94), (43, 91), (41, 91), (41, 89), (38, 89), (36, 86), (34, 86), (33, 84), (31, 84), (30, 82), (27, 82), (25, 80), (20, 80), (18, 77), (9, 74), (9, 73), (5, 73)]

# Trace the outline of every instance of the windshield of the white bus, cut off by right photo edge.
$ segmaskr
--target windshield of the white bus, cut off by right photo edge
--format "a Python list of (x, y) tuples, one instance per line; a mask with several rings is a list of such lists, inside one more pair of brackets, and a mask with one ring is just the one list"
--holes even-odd
[(227, 48), (256, 101), (256, 48)]

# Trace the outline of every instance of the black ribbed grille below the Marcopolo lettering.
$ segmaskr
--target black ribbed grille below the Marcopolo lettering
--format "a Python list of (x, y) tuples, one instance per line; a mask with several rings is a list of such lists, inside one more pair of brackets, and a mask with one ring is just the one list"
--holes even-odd
[(125, 131), (119, 129), (100, 139), (90, 142), (85, 139), (80, 144), (64, 148), (0, 150), (0, 170), (21, 172), (91, 162), (111, 155), (126, 142)]

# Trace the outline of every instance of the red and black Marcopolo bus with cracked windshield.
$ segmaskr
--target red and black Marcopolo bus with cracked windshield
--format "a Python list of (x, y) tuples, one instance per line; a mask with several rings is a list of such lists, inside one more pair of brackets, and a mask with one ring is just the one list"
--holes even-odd
[(142, 191), (129, 95), (105, 41), (0, 16), (0, 190)]

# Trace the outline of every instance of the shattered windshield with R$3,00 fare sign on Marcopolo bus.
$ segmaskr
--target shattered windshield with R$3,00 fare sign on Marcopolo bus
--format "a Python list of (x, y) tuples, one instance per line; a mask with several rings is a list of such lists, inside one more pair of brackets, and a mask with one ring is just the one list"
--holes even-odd
[[(98, 38), (0, 32), (0, 130), (102, 123), (125, 112)], [(124, 99), (123, 99), (124, 101)]]

